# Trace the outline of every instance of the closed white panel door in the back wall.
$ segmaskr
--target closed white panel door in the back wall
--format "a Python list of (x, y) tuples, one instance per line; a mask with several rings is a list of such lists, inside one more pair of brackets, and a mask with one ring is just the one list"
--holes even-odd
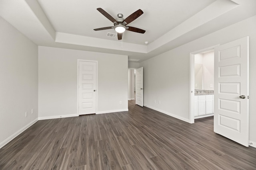
[(96, 62), (79, 61), (79, 115), (96, 113), (96, 70)]

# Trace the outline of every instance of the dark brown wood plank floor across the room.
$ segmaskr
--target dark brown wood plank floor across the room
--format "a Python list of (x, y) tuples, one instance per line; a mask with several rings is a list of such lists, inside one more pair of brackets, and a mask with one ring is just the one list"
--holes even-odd
[(0, 170), (256, 169), (256, 149), (129, 101), (129, 111), (41, 120), (0, 149)]

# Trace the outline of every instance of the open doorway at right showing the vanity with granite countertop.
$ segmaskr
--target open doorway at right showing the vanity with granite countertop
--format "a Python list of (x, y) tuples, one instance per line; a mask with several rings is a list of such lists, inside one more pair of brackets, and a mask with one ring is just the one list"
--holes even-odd
[(190, 123), (214, 115), (214, 47), (190, 53)]

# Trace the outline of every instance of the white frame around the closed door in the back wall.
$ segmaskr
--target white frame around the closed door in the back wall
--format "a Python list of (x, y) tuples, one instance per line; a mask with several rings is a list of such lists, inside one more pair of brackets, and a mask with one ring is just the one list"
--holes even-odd
[(79, 62), (86, 61), (86, 62), (94, 62), (96, 63), (96, 114), (98, 113), (98, 61), (96, 60), (83, 60), (77, 59), (77, 106), (76, 106), (76, 114), (79, 116)]

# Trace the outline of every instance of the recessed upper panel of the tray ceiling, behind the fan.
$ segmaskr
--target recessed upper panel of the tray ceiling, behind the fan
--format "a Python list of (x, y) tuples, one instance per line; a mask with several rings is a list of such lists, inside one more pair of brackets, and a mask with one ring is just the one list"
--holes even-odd
[[(38, 0), (47, 18), (57, 32), (84, 35), (118, 41), (106, 37), (107, 32), (116, 33), (114, 29), (94, 31), (94, 28), (113, 26), (96, 8), (102, 8), (113, 18), (122, 13), (124, 18), (138, 9), (144, 14), (128, 24), (146, 30), (146, 33), (126, 31), (124, 42), (144, 45), (145, 41), (153, 42), (158, 37), (210, 5), (214, 0)], [(194, 8), (190, 8), (197, 4)], [(168, 8), (166, 8), (168, 7)]]

